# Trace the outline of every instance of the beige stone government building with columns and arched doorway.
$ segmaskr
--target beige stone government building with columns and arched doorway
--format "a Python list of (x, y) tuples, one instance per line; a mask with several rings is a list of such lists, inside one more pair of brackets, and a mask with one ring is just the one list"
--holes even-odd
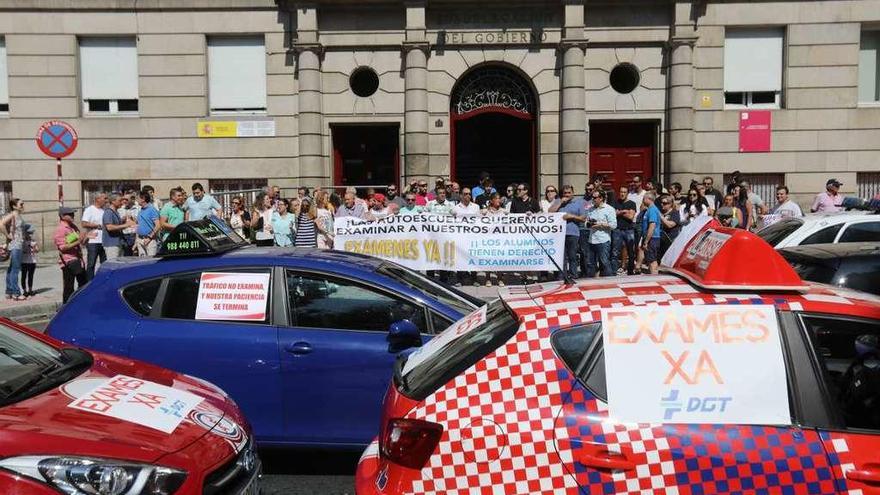
[[(0, 0), (0, 196), (54, 207), (49, 119), (80, 137), (67, 204), (482, 170), (866, 196), (878, 29), (878, 0)], [(741, 152), (743, 112), (767, 110), (769, 151)]]

